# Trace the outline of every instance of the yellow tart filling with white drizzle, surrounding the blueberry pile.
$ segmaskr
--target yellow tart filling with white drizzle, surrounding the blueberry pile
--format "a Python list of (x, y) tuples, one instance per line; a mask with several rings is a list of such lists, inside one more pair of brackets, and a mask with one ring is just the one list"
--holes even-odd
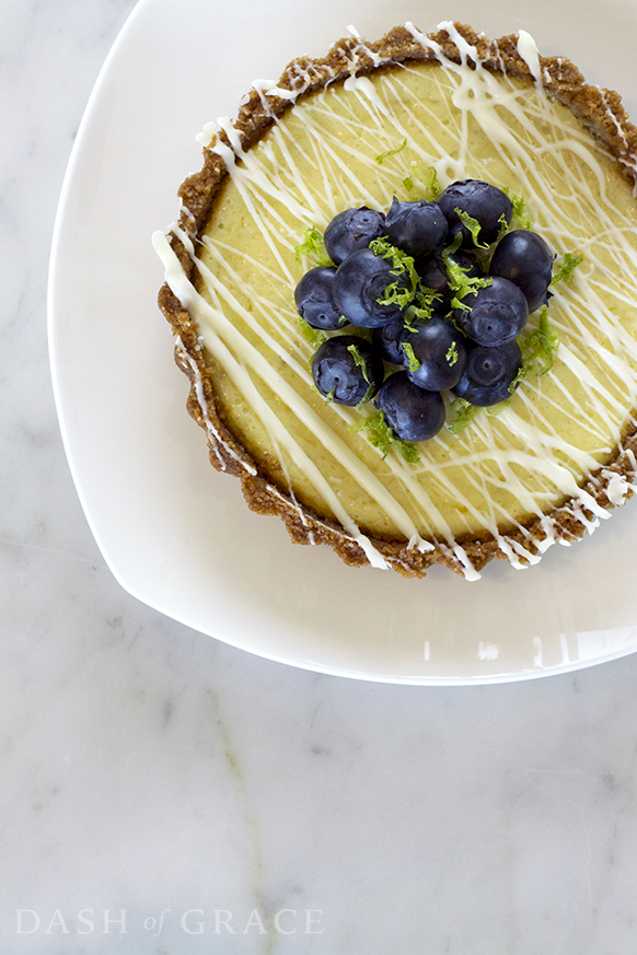
[[(232, 203), (234, 220), (239, 212), (247, 232), (223, 228), (230, 217), (224, 222), (220, 216), (222, 229), (204, 236), (197, 256), (193, 240), (173, 230), (196, 263), (197, 290), (163, 236), (155, 237), (155, 248), (169, 286), (225, 375), (228, 394), (240, 394), (258, 419), (289, 484), (292, 506), (303, 513), (292, 491), (302, 474), (317, 510), (336, 519), (372, 564), (386, 567), (387, 560), (359, 529), (355, 514), (366, 508), (357, 498), (369, 502), (372, 525), (384, 521), (408, 548), (421, 552), (435, 541), (474, 580), (479, 574), (458, 543), (462, 533), (487, 529), (510, 563), (523, 568), (559, 539), (545, 516), (553, 506), (566, 502), (589, 533), (607, 516), (580, 486), (613, 456), (627, 409), (637, 405), (637, 241), (628, 188), (611, 186), (604, 150), (546, 95), (529, 34), (520, 32), (518, 53), (535, 79), (534, 89), (494, 75), (453, 24), (441, 27), (455, 43), (460, 63), (407, 24), (440, 67), (358, 75), (357, 63), (368, 47), (350, 28), (356, 40), (352, 75), (300, 102), (255, 148), (243, 150), (228, 119), (209, 124), (199, 139), (223, 159), (232, 195), (222, 202)], [(378, 54), (373, 59), (378, 65)], [(427, 71), (433, 98), (449, 98), (444, 126), (435, 121), (427, 101), (414, 101), (419, 70)], [(255, 81), (254, 89), (267, 112), (271, 97), (293, 98), (309, 82), (300, 75), (293, 94), (264, 80)], [(216, 139), (221, 130), (227, 142)], [(403, 140), (406, 149), (378, 162), (379, 154)], [(485, 143), (489, 149), (482, 149)], [(535, 228), (552, 247), (558, 254), (580, 251), (584, 264), (572, 284), (554, 289), (549, 316), (560, 337), (554, 372), (526, 381), (498, 417), (480, 412), (459, 438), (442, 432), (420, 445), (419, 465), (393, 452), (381, 464), (363, 435), (355, 447), (351, 438), (344, 441), (357, 412), (325, 408), (311, 388), (311, 349), (300, 336), (293, 307), (293, 288), (302, 273), (293, 247), (308, 226), (324, 228), (343, 208), (366, 203), (385, 209), (393, 195), (407, 198), (404, 182), (414, 178), (414, 166), (435, 168), (442, 186), (466, 176), (510, 183), (525, 196)], [(552, 176), (558, 189), (547, 188)], [(245, 252), (243, 234), (251, 236)], [(188, 361), (186, 352), (183, 360)], [(277, 396), (276, 410), (271, 395)], [(206, 427), (213, 430), (209, 419)], [(634, 456), (627, 463), (634, 474)], [(629, 479), (605, 470), (601, 477), (607, 480), (611, 504), (624, 503)], [(343, 499), (344, 481), (357, 489), (354, 500), (351, 493)], [(542, 534), (531, 537), (524, 527), (533, 516), (541, 519)], [(501, 532), (502, 526), (518, 528), (522, 543)]]

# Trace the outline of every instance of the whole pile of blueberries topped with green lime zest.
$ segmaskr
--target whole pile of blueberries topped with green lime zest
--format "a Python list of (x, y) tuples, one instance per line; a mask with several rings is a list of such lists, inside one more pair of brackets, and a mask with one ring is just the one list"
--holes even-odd
[[(394, 198), (386, 214), (338, 213), (324, 235), (332, 265), (294, 291), (308, 325), (331, 333), (312, 359), (317, 391), (350, 406), (373, 398), (406, 442), (442, 428), (442, 392), (475, 407), (507, 399), (522, 366), (516, 338), (548, 301), (555, 258), (511, 219), (509, 197), (478, 179), (436, 201)], [(369, 331), (332, 334), (348, 324)], [(385, 363), (398, 368), (387, 375)]]

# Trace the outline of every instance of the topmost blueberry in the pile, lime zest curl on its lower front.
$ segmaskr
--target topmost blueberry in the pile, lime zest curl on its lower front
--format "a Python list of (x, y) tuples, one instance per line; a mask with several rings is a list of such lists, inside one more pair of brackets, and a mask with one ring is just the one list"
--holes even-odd
[(507, 194), (482, 179), (452, 183), (440, 194), (437, 202), (449, 221), (450, 238), (462, 232), (461, 244), (465, 248), (475, 247), (475, 243), (468, 229), (462, 224), (456, 209), (466, 212), (479, 223), (478, 242), (482, 244), (490, 245), (497, 240), (502, 216), (507, 225), (511, 221), (512, 206)]

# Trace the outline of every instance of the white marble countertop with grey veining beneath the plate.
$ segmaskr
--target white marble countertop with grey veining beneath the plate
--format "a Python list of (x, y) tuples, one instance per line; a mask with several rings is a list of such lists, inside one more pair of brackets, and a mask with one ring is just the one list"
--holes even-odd
[(0, 951), (616, 955), (637, 918), (637, 657), (408, 687), (251, 656), (116, 583), (47, 361), (56, 203), (134, 0), (7, 0)]

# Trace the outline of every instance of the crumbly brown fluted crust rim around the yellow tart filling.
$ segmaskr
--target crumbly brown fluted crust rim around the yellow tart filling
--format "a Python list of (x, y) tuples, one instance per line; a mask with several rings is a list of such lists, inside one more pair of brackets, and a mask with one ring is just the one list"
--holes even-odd
[[(454, 26), (462, 37), (476, 48), (484, 67), (494, 72), (533, 81), (526, 62), (518, 53), (516, 34), (493, 40), (476, 34), (470, 26), (459, 23)], [(440, 45), (448, 59), (454, 62), (461, 61), (459, 49), (447, 31), (429, 34), (429, 38)], [(301, 57), (293, 60), (286, 67), (277, 85), (298, 92), (299, 95), (305, 95), (348, 77), (354, 55), (356, 55), (357, 73), (373, 71), (379, 59), (381, 67), (409, 60), (435, 61), (436, 59), (433, 53), (415, 40), (406, 27), (397, 26), (377, 43), (346, 37), (338, 40), (325, 58)], [(566, 58), (540, 57), (540, 66), (547, 94), (567, 106), (603, 143), (609, 153), (618, 161), (624, 176), (635, 188), (637, 129), (629, 123), (619, 95), (611, 90), (588, 85), (577, 67)], [(233, 124), (241, 136), (243, 149), (254, 145), (276, 118), (289, 108), (291, 104), (287, 98), (268, 96), (266, 103), (263, 95), (252, 90)], [(225, 133), (221, 132), (220, 137), (225, 139)], [(182, 203), (179, 226), (188, 235), (197, 236), (204, 229), (224, 176), (223, 160), (210, 149), (206, 149), (204, 167), (199, 173), (188, 177), (178, 193)], [(169, 235), (169, 241), (186, 273), (192, 278), (194, 266), (188, 252), (174, 233)], [(190, 381), (186, 406), (190, 416), (207, 432), (212, 466), (239, 477), (248, 506), (259, 514), (274, 514), (280, 517), (294, 543), (327, 544), (346, 563), (367, 564), (364, 552), (340, 525), (316, 516), (308, 508), (300, 506), (259, 470), (241, 441), (223, 421), (215, 398), (213, 375), (206, 365), (199, 345), (197, 325), (167, 284), (160, 290), (158, 301), (173, 328), (177, 366)], [(637, 479), (635, 417), (632, 416), (629, 432), (617, 449), (615, 458), (601, 467), (583, 486), (583, 490), (605, 510), (615, 506), (606, 493), (609, 484), (615, 475), (622, 476), (628, 484)], [(630, 490), (629, 493), (633, 491)], [(548, 516), (553, 523), (553, 536), (565, 544), (581, 538), (594, 520), (590, 511), (578, 506), (574, 501), (567, 501)], [(364, 533), (364, 528), (361, 531)], [(404, 541), (387, 541), (373, 535), (369, 537), (387, 563), (405, 577), (424, 577), (428, 568), (436, 563), (447, 566), (456, 573), (463, 573), (462, 563), (451, 548), (444, 545), (439, 544), (433, 550), (421, 554), (415, 548), (409, 549)], [(507, 532), (506, 537), (530, 554), (535, 554), (537, 548), (533, 541), (545, 539), (546, 533), (541, 521), (535, 520), (524, 528)], [(498, 541), (490, 535), (484, 539), (460, 539), (459, 543), (477, 571), (480, 571), (490, 560), (507, 558)], [(524, 562), (523, 558), (521, 562)]]

